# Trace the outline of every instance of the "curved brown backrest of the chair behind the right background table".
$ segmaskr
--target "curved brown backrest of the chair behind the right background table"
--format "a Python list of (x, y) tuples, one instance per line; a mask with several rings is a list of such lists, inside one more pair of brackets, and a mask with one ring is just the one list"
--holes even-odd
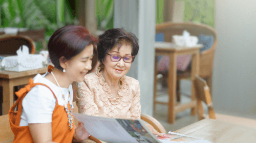
[(200, 34), (214, 37), (214, 43), (211, 48), (200, 53), (200, 76), (206, 77), (211, 75), (214, 61), (214, 51), (217, 43), (217, 34), (214, 28), (194, 22), (164, 22), (156, 25), (156, 34), (163, 33), (165, 42), (173, 42), (173, 35), (182, 35), (186, 30), (191, 36), (199, 37)]

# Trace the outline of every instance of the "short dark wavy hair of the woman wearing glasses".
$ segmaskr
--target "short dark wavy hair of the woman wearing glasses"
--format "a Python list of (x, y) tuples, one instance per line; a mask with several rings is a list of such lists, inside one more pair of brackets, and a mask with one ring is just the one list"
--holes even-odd
[(126, 32), (123, 28), (113, 28), (99, 35), (97, 51), (100, 64), (103, 66), (106, 54), (112, 48), (118, 45), (119, 49), (123, 44), (131, 44), (132, 55), (136, 56), (138, 54), (139, 44), (137, 37), (133, 33)]

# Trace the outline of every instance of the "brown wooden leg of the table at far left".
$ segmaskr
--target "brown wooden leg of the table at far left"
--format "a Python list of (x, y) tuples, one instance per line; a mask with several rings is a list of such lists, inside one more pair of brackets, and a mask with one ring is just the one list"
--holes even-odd
[(13, 81), (4, 80), (3, 82), (3, 108), (4, 115), (8, 114), (11, 106), (13, 105)]

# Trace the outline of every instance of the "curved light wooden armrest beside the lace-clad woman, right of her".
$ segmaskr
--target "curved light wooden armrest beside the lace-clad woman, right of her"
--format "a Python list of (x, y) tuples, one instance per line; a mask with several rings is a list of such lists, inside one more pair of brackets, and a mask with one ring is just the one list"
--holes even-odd
[(159, 123), (155, 118), (146, 115), (145, 113), (141, 113), (140, 119), (152, 125), (158, 132), (167, 133), (161, 123)]

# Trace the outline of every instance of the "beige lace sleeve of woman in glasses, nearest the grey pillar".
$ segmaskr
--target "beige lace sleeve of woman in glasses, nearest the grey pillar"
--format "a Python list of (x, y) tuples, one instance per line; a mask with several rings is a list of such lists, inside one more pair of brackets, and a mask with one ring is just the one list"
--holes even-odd
[(133, 97), (133, 104), (131, 106), (131, 119), (140, 119), (141, 106), (140, 106), (140, 85), (136, 85), (137, 93)]

